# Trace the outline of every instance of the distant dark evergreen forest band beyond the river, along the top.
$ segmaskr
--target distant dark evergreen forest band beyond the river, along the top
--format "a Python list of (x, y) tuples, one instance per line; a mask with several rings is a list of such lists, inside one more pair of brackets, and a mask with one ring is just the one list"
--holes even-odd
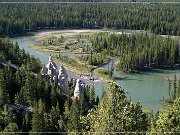
[(0, 4), (0, 35), (39, 29), (114, 28), (180, 34), (179, 4)]

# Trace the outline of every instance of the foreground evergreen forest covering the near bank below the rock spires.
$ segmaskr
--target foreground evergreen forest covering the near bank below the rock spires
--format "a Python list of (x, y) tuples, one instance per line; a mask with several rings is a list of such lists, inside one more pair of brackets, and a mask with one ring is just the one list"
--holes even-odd
[[(23, 50), (15, 49), (18, 45), (12, 45), (8, 39), (0, 41), (2, 52), (8, 48), (12, 54), (16, 54), (13, 57), (16, 61), (13, 61), (9, 59), (9, 53), (1, 53), (4, 60), (12, 60), (13, 64), (19, 66), (29, 64), (33, 67), (33, 63), (38, 63), (36, 59), (32, 63), (17, 61), (21, 55), (28, 58), (29, 54), (22, 54)], [(39, 70), (38, 67), (36, 69)], [(70, 80), (68, 94), (64, 96), (51, 79), (47, 82), (41, 75), (31, 74), (29, 70), (17, 70), (9, 65), (1, 65), (0, 132), (155, 134), (180, 131), (179, 97), (172, 101), (171, 106), (153, 117), (142, 111), (140, 103), (129, 101), (124, 90), (116, 83), (110, 84), (108, 96), (107, 92), (103, 91), (101, 98), (96, 99), (94, 87), (86, 86), (84, 100), (90, 104), (89, 107), (83, 105), (84, 100), (81, 97), (70, 99), (74, 87), (75, 81)]]

